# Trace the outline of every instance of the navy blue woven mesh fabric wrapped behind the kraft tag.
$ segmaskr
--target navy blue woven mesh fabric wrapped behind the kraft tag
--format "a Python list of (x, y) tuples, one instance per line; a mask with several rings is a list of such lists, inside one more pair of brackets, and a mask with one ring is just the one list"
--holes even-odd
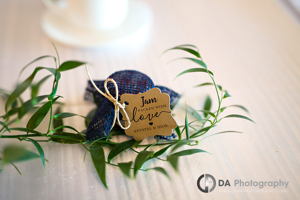
[[(139, 92), (143, 93), (155, 87), (153, 81), (146, 74), (138, 71), (117, 71), (110, 75), (109, 78), (112, 78), (117, 83), (119, 91), (118, 101), (120, 101), (120, 96), (122, 94), (138, 94)], [(94, 83), (101, 91), (105, 91), (104, 81), (94, 81)], [(156, 87), (161, 89), (161, 92), (165, 92), (170, 95), (170, 107), (172, 108), (180, 95), (166, 87)], [(112, 82), (107, 82), (107, 89), (110, 94), (113, 95), (113, 97), (116, 96), (116, 88)], [(113, 125), (113, 119), (115, 117), (115, 107), (113, 103), (101, 95), (97, 89), (94, 88), (91, 82), (88, 83), (84, 99), (86, 101), (95, 101), (98, 106), (98, 111), (93, 117), (86, 132), (88, 142), (95, 141), (99, 138), (109, 135), (110, 129)], [(121, 115), (120, 118), (122, 119)], [(170, 140), (175, 136), (172, 134), (171, 136), (157, 135), (155, 137), (159, 139)]]

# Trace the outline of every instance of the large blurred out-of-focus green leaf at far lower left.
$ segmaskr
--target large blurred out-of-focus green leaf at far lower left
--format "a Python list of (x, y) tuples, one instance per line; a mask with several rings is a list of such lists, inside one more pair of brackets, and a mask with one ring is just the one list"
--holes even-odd
[(5, 162), (20, 162), (39, 157), (38, 154), (18, 146), (8, 146), (3, 151), (3, 160)]

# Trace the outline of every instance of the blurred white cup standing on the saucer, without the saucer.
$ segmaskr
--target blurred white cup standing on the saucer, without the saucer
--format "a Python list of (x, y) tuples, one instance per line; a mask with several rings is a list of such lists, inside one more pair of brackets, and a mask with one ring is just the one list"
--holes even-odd
[(43, 0), (61, 20), (82, 28), (107, 31), (127, 16), (128, 0)]

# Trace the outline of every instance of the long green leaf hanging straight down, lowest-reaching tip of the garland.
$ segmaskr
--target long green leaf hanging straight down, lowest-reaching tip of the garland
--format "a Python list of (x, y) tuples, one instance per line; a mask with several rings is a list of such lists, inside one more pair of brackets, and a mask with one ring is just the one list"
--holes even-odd
[(95, 168), (98, 172), (100, 180), (102, 181), (103, 185), (108, 189), (106, 184), (106, 173), (105, 173), (105, 154), (103, 147), (99, 146), (91, 146), (91, 157), (94, 162)]

